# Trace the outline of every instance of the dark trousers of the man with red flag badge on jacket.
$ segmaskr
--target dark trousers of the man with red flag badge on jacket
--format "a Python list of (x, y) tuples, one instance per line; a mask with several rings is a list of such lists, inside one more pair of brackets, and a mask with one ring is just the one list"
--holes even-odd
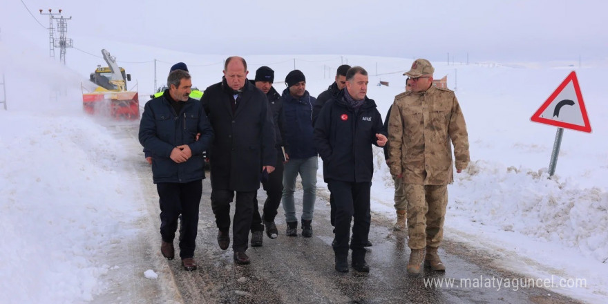
[(370, 234), (370, 188), (371, 182), (343, 182), (330, 180), (330, 191), (334, 196), (336, 209), (335, 227), (336, 255), (348, 255), (348, 241), (350, 238), (350, 220), (352, 225), (352, 241), (350, 249), (353, 251), (365, 250)]

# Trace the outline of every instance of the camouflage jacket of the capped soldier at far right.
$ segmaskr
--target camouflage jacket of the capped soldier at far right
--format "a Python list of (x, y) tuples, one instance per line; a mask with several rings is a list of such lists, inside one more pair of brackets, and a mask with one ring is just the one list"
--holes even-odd
[(390, 173), (406, 184), (451, 184), (452, 146), (456, 169), (469, 162), (464, 115), (453, 91), (431, 86), (426, 92), (395, 96), (388, 122)]

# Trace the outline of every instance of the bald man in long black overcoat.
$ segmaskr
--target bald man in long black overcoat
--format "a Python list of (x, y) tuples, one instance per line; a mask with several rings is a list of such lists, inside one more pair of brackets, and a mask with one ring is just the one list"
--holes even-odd
[(211, 208), (216, 215), (218, 245), (230, 245), (230, 202), (235, 198), (232, 226), (234, 262), (249, 264), (245, 254), (254, 198), (260, 177), (276, 163), (274, 124), (266, 95), (247, 81), (247, 62), (228, 57), (222, 82), (209, 86), (200, 101), (216, 136), (211, 143)]

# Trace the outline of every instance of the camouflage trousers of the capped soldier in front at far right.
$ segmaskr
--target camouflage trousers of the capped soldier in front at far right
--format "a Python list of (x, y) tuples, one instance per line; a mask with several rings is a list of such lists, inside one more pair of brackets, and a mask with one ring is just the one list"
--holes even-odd
[(408, 247), (439, 247), (444, 238), (448, 185), (404, 184), (404, 193), (408, 201)]

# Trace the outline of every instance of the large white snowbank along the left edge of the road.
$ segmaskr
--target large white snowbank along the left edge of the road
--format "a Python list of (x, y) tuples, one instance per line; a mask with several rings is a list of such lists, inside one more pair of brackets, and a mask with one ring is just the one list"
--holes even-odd
[(104, 248), (132, 231), (124, 155), (86, 117), (0, 111), (1, 303), (90, 301)]

